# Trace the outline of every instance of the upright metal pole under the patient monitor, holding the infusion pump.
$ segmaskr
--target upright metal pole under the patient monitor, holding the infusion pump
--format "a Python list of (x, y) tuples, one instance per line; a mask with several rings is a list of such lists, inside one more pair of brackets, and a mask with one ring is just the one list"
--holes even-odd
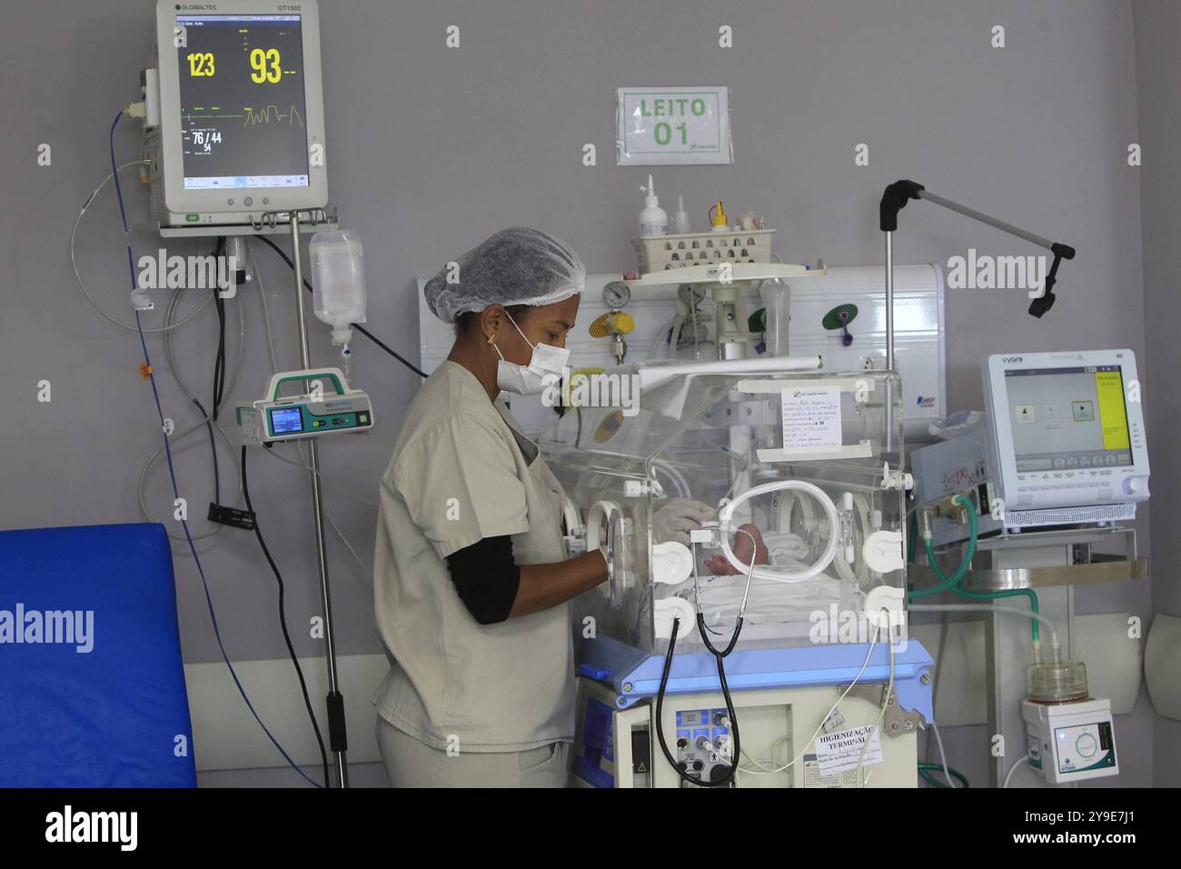
[[(317, 214), (312, 212), (313, 220)], [(307, 343), (307, 318), (304, 312), (304, 268), (299, 247), (299, 212), (291, 213), (292, 262), (295, 270), (295, 299), (299, 313), (300, 364), (312, 367)], [(305, 383), (305, 390), (307, 384)], [(320, 494), (320, 450), (314, 437), (308, 439), (308, 467), (312, 476), (312, 502), (315, 517), (315, 556), (320, 565), (320, 604), (324, 608), (324, 656), (328, 664), (328, 746), (337, 758), (337, 786), (348, 787), (348, 737), (345, 728), (345, 699), (339, 689), (337, 646), (332, 633), (332, 595), (328, 589), (328, 553), (324, 541), (324, 500)]]

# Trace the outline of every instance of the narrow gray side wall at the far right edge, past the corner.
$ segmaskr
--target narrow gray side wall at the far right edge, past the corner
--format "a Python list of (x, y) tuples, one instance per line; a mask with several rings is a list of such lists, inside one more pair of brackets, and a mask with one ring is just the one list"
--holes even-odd
[[(1148, 348), (1148, 436), (1157, 445), (1169, 445), (1181, 426), (1181, 391), (1176, 388), (1181, 370), (1181, 175), (1173, 160), (1181, 142), (1181, 6), (1169, 0), (1136, 0), (1133, 5), (1136, 34), (1136, 102), (1140, 114), (1140, 142), (1144, 149), (1141, 169), (1141, 221), (1144, 245), (1144, 338)], [(1181, 513), (1181, 474), (1175, 449), (1160, 446), (1153, 452), (1154, 505), (1151, 557), (1156, 565), (1153, 607), (1157, 612), (1181, 616), (1181, 585), (1175, 565), (1181, 558), (1175, 518)], [(1177, 675), (1181, 679), (1181, 674)], [(1156, 746), (1154, 784), (1181, 786), (1181, 722), (1156, 718), (1153, 742)]]

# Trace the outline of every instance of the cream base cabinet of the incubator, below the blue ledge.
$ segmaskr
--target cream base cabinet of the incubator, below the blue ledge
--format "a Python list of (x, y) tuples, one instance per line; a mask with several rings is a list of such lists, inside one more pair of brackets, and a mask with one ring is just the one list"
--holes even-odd
[[(859, 651), (864, 654), (866, 647)], [(732, 702), (742, 737), (738, 787), (914, 787), (918, 784), (918, 732), (931, 713), (931, 686), (925, 681), (931, 657), (911, 643), (915, 663), (898, 664), (909, 676), (895, 681), (887, 694), (879, 681), (862, 676), (833, 685), (738, 689), (730, 679)], [(885, 655), (885, 646), (879, 647)], [(854, 654), (855, 656), (855, 654)], [(877, 656), (874, 656), (877, 660)], [(883, 670), (888, 664), (880, 664)], [(795, 674), (797, 681), (809, 674)], [(706, 681), (706, 680), (700, 680)], [(790, 681), (790, 676), (784, 681)], [(576, 787), (677, 787), (680, 777), (668, 765), (657, 737), (655, 698), (621, 708), (622, 700), (609, 683), (580, 677), (576, 729), (570, 752), (569, 783)], [(864, 733), (881, 718), (864, 758)], [(908, 709), (913, 705), (925, 709)], [(660, 708), (666, 744), (678, 764), (692, 778), (710, 780), (725, 771), (727, 759), (712, 747), (725, 747), (731, 728), (724, 720), (725, 700), (718, 690), (668, 693)], [(828, 716), (829, 727), (821, 721)], [(815, 739), (817, 729), (820, 734)], [(857, 763), (861, 761), (859, 776)]]

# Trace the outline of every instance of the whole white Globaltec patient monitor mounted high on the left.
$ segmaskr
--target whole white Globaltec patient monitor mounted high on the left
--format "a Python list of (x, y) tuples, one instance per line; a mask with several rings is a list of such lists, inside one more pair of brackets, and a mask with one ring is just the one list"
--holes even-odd
[(162, 227), (327, 205), (314, 0), (159, 0), (156, 39), (144, 145)]

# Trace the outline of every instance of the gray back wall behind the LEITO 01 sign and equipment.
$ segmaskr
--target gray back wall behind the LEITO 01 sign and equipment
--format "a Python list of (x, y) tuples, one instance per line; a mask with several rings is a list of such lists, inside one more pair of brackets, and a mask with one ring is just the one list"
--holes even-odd
[[(1154, 14), (1166, 15), (1168, 4), (1153, 6)], [(151, 8), (146, 0), (45, 0), (25, 5), (0, 35), (0, 95), (12, 121), (0, 140), (6, 167), (0, 244), (9, 286), (0, 354), (14, 396), (14, 413), (0, 417), (7, 494), (0, 526), (139, 519), (139, 469), (158, 448), (159, 433), (137, 372), (138, 343), (83, 301), (65, 242), (79, 205), (109, 171), (106, 131), (118, 108), (136, 96)], [(953, 406), (980, 407), (977, 364), (990, 352), (1129, 346), (1143, 358), (1140, 176), (1124, 160), (1137, 124), (1127, 0), (751, 0), (720, 9), (700, 0), (465, 0), (415, 7), (321, 0), (321, 17), (332, 201), (366, 241), (370, 328), (411, 357), (415, 278), (497, 228), (523, 223), (553, 232), (594, 272), (631, 267), (628, 239), (647, 171), (614, 166), (614, 87), (725, 84), (736, 163), (658, 169), (665, 205), (679, 192), (699, 215), (720, 196), (735, 212), (763, 213), (778, 227), (779, 252), (789, 259), (877, 264), (877, 199), (887, 182), (909, 177), (1078, 248), (1078, 258), (1063, 267), (1059, 301), (1043, 322), (1026, 316), (1022, 292), (948, 293)], [(462, 28), (459, 50), (444, 48), (444, 27), (451, 24)], [(733, 48), (717, 47), (723, 24), (733, 27)], [(1003, 50), (990, 47), (998, 24), (1006, 27)], [(1175, 30), (1167, 35), (1149, 24), (1147, 31), (1160, 48), (1156, 60), (1143, 63), (1163, 69)], [(1175, 70), (1169, 74), (1156, 86), (1175, 84)], [(1174, 92), (1161, 90), (1155, 102)], [(1166, 118), (1154, 123), (1173, 129)], [(1168, 123), (1175, 124), (1175, 116)], [(53, 147), (52, 167), (34, 162), (41, 142)], [(598, 145), (596, 167), (581, 163), (587, 142)], [(868, 167), (854, 166), (857, 143), (869, 144)], [(133, 122), (120, 125), (116, 144), (120, 162), (135, 156)], [(129, 208), (143, 219), (144, 190), (125, 177)], [(1161, 197), (1163, 181), (1157, 179)], [(1146, 210), (1153, 202), (1146, 200)], [(145, 235), (137, 251), (156, 245)], [(946, 262), (968, 247), (1038, 253), (926, 203), (902, 213), (899, 261)], [(1160, 275), (1150, 298), (1163, 304), (1164, 278), (1172, 275), (1161, 260), (1164, 242), (1149, 254)], [(280, 364), (294, 368), (288, 272), (261, 247), (259, 262)], [(122, 232), (109, 192), (84, 222), (79, 265), (94, 292), (125, 317)], [(256, 397), (266, 376), (256, 298), (247, 299), (246, 316), (244, 374), (235, 401)], [(1167, 341), (1168, 326), (1157, 320), (1156, 329)], [(209, 391), (214, 336), (208, 311), (177, 335), (178, 362), (202, 395)], [(315, 361), (331, 362), (326, 335), (317, 336)], [(158, 338), (149, 346), (163, 369)], [(355, 359), (355, 380), (371, 391), (383, 424), (367, 439), (326, 443), (324, 466), (353, 492), (372, 497), (416, 378), (363, 338)], [(1164, 357), (1148, 362), (1160, 371)], [(43, 378), (53, 383), (51, 404), (34, 400)], [(168, 414), (191, 420), (167, 375), (161, 384)], [(201, 436), (176, 449), (183, 493), (195, 505), (211, 492), (208, 452)], [(223, 454), (223, 472), (229, 465)], [(256, 456), (250, 469), (262, 527), (288, 581), (289, 618), (306, 624), (318, 596), (305, 484), (298, 471), (273, 459)], [(227, 473), (223, 487), (229, 486)], [(1163, 492), (1163, 479), (1154, 488)], [(171, 494), (159, 467), (148, 492), (154, 514), (167, 515)], [(376, 511), (332, 487), (326, 502), (367, 558)], [(205, 527), (200, 519), (193, 524)], [(366, 581), (335, 539), (329, 545), (339, 653), (374, 651)], [(254, 539), (227, 530), (198, 550), (229, 654), (282, 656), (274, 586)], [(188, 555), (176, 551), (185, 660), (216, 660), (200, 579)], [(1176, 609), (1175, 591), (1172, 603), (1157, 594), (1159, 605)], [(1122, 609), (1146, 621), (1151, 610), (1148, 583), (1081, 590), (1078, 602), (1081, 611)], [(318, 644), (306, 630), (294, 634), (298, 651), (314, 654)], [(1125, 754), (1120, 782), (1149, 784), (1154, 725), (1143, 699), (1120, 727), (1121, 742), (1136, 746)], [(948, 748), (970, 777), (983, 779), (983, 764), (973, 769), (968, 753), (979, 753), (984, 734), (964, 729), (948, 734)], [(1157, 724), (1156, 734), (1164, 733)], [(1164, 744), (1166, 752), (1175, 753), (1175, 744)]]

